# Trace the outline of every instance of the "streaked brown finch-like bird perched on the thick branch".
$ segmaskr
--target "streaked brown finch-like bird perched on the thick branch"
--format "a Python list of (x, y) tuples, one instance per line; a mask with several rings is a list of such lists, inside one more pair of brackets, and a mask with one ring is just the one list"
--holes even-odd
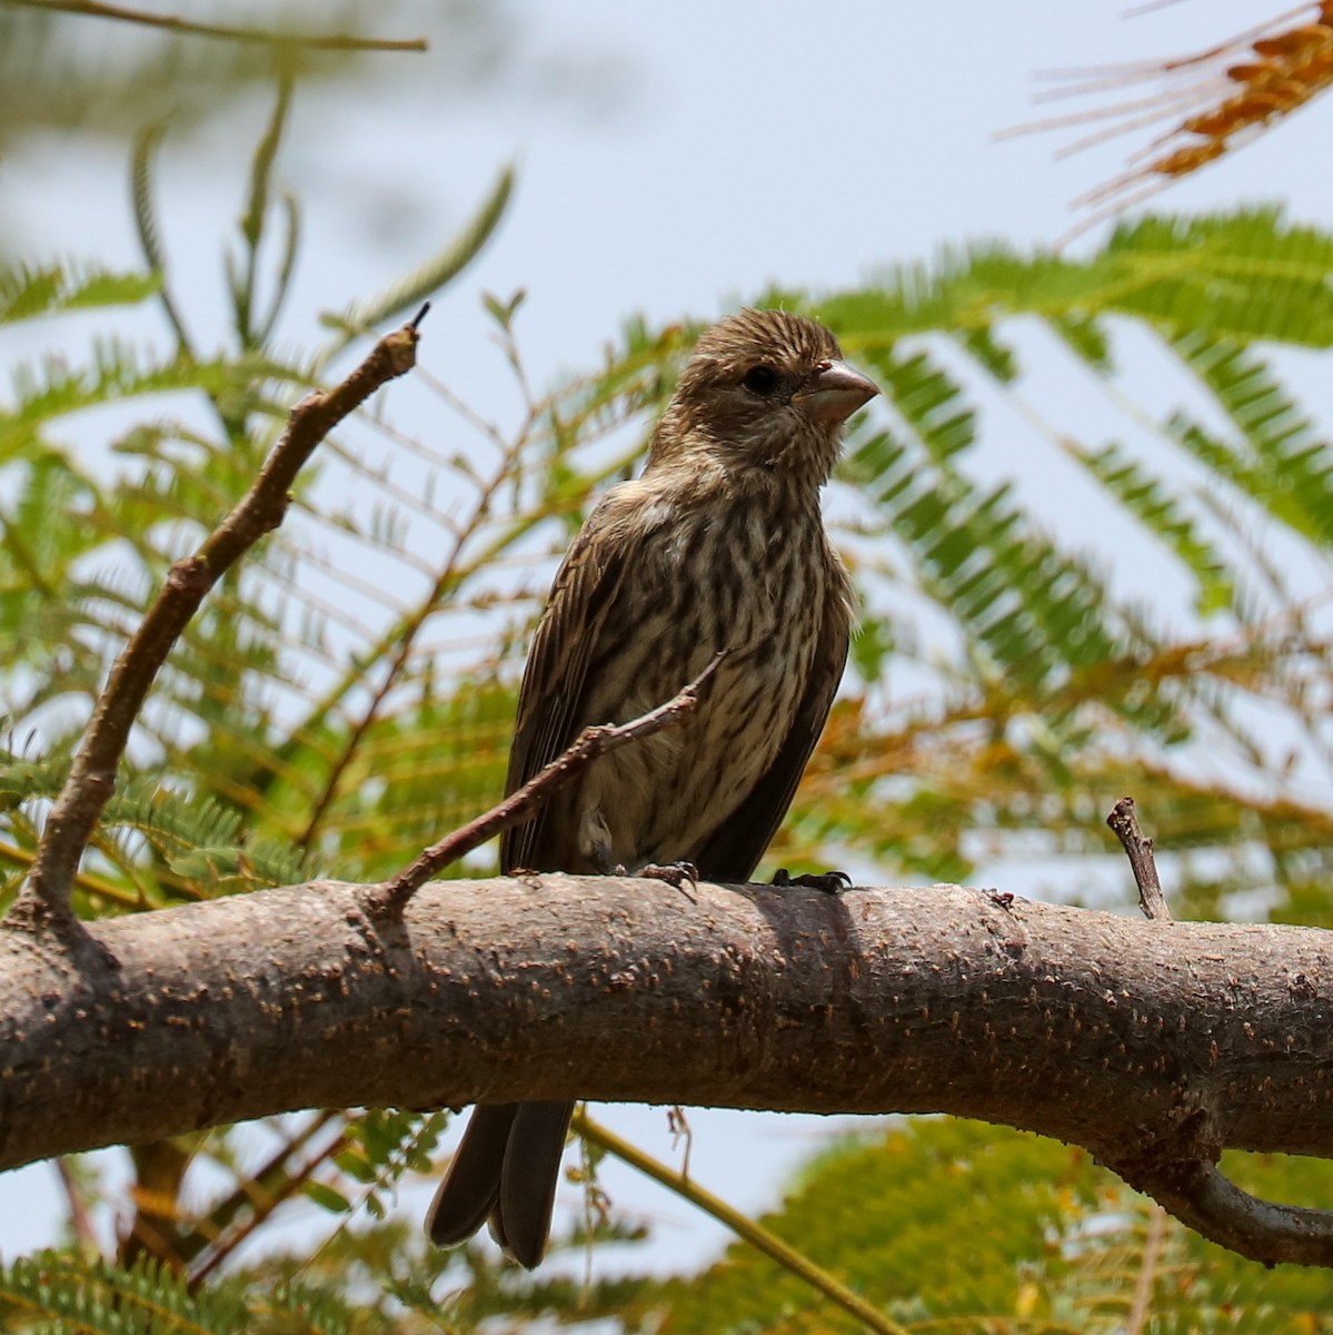
[[(699, 339), (643, 475), (602, 499), (532, 639), (506, 792), (591, 724), (670, 700), (719, 650), (685, 722), (600, 757), (500, 841), (500, 868), (693, 864), (747, 881), (795, 793), (847, 659), (851, 583), (819, 490), (878, 392), (821, 324), (743, 311)], [(442, 1247), (490, 1220), (530, 1270), (546, 1250), (572, 1103), (483, 1104), (427, 1218)]]

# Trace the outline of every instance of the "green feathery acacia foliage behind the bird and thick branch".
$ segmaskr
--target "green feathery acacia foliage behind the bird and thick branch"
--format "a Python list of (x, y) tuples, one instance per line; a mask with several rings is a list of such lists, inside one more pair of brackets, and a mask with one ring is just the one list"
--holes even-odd
[[(135, 156), (141, 270), (0, 270), (8, 324), (101, 318), (81, 352), (20, 358), (0, 402), (5, 896), (169, 562), (248, 485), (286, 406), (366, 320), (466, 274), (506, 207), (507, 172), (439, 255), (380, 296), (350, 295), (326, 344), (279, 350), (298, 228), (268, 176), (286, 113), (284, 93), (228, 264), (232, 327), (207, 348), (169, 302), (151, 139)], [(274, 228), (276, 295), (258, 311)], [(963, 880), (1009, 856), (1078, 854), (1091, 890), (1112, 857), (1101, 817), (1134, 792), (1160, 846), (1185, 854), (1172, 866), (1182, 916), (1244, 905), (1328, 920), (1333, 659), (1318, 573), (1333, 487), (1278, 367), (1286, 350), (1333, 340), (1330, 268), (1329, 235), (1240, 211), (1126, 224), (1082, 260), (959, 247), (855, 291), (757, 294), (830, 322), (885, 388), (830, 495), (865, 598), (853, 672), (774, 862)], [(165, 352), (125, 334), (132, 308), (152, 302), (173, 328)], [(520, 372), (520, 302), (486, 303)], [(602, 364), (542, 394), (516, 374), (507, 434), (443, 386), (434, 415), (399, 419), (390, 396), (387, 413), (330, 442), (292, 522), (224, 581), (173, 654), (80, 876), (80, 912), (152, 912), (323, 872), (376, 880), (484, 808), (546, 574), (590, 498), (638, 461), (698, 327), (630, 322)], [(1077, 429), (1053, 398), (1073, 383), (1101, 405)], [(112, 406), (120, 425), (103, 442), (99, 413)], [(447, 451), (432, 443), (439, 415), (454, 427)], [(1089, 506), (1073, 535), (1034, 486), (1046, 475)], [(1150, 587), (1121, 578), (1126, 554), (1146, 559)], [(739, 1252), (698, 1280), (607, 1280), (582, 1296), (486, 1250), (427, 1252), (391, 1207), (440, 1124), (326, 1113), (266, 1128), (260, 1153), (235, 1133), (139, 1147), (128, 1268), (73, 1254), (12, 1266), (9, 1319), (73, 1320), (83, 1284), (111, 1295), (80, 1308), (89, 1330), (121, 1328), (144, 1286), (163, 1295), (161, 1330), (180, 1314), (200, 1330), (467, 1328), (538, 1311), (627, 1326), (670, 1311), (681, 1328), (711, 1330), (838, 1320)], [(226, 1185), (185, 1192), (204, 1160)], [(1305, 1168), (1253, 1173), (1266, 1195), (1309, 1188)], [(251, 1244), (262, 1259), (236, 1259), (298, 1200), (326, 1212), (323, 1246)], [(588, 1219), (599, 1242), (638, 1234), (614, 1211)], [(1153, 1267), (1156, 1328), (1225, 1328), (1237, 1314), (1244, 1330), (1280, 1328), (1274, 1312), (1326, 1322), (1322, 1276), (1272, 1280), (1176, 1224), (1156, 1228), (1149, 1267), (1150, 1224), (1077, 1153), (950, 1124), (830, 1151), (771, 1220), (914, 1328), (961, 1316), (1117, 1328), (1132, 1276)], [(966, 1247), (950, 1243), (958, 1234)], [(582, 1246), (578, 1230), (563, 1244)], [(172, 1271), (195, 1279), (192, 1294)], [(298, 1292), (298, 1275), (300, 1296), (264, 1307), (263, 1295)]]

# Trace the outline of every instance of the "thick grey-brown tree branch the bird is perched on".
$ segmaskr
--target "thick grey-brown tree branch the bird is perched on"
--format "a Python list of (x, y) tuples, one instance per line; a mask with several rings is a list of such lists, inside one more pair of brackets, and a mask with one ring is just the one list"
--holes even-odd
[(1224, 1148), (1333, 1157), (1333, 933), (961, 889), (532, 876), (400, 920), (320, 882), (0, 932), (0, 1165), (311, 1107), (951, 1112), (1087, 1147), (1209, 1236), (1333, 1264)]

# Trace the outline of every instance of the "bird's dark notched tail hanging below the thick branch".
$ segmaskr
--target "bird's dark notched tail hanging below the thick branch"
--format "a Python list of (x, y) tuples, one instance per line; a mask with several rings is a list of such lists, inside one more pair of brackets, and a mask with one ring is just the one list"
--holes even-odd
[(572, 1103), (480, 1104), (426, 1216), (438, 1247), (467, 1242), (490, 1219), (527, 1270), (546, 1251)]

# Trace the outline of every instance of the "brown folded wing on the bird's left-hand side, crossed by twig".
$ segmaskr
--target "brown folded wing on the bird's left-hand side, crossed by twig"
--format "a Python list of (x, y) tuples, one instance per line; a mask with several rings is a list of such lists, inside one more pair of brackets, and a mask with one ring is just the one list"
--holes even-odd
[[(604, 505), (598, 507), (603, 515), (607, 513)], [(624, 543), (604, 541), (604, 529), (606, 523), (599, 522), (594, 511), (556, 571), (519, 690), (506, 796), (550, 765), (586, 722), (580, 701), (588, 662), (628, 565)], [(524, 866), (559, 870), (532, 868), (532, 850), (538, 846), (544, 816), (543, 808), (532, 820), (500, 836), (502, 872)]]

